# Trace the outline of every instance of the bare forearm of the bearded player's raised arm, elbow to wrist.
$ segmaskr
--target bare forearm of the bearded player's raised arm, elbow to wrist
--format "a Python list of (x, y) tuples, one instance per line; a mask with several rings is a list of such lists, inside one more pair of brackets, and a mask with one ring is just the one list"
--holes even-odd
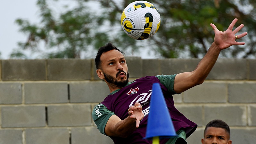
[(193, 71), (193, 75), (197, 77), (198, 84), (202, 84), (206, 79), (214, 64), (216, 63), (219, 57), (219, 53), (220, 50), (218, 49), (218, 46), (213, 42), (205, 56)]

